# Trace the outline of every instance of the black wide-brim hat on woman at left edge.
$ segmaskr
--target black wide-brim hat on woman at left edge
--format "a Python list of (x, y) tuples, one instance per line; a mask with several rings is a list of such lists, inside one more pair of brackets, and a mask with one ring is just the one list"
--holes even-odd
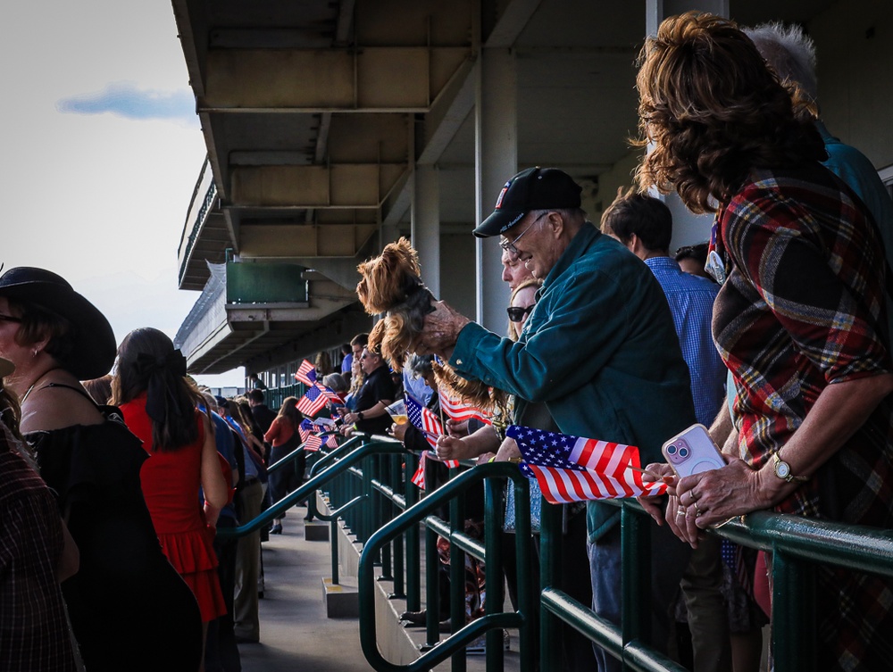
[(98, 378), (114, 364), (117, 347), (109, 320), (49, 270), (20, 266), (0, 276), (0, 296), (21, 303), (36, 303), (71, 322), (73, 347), (59, 364), (80, 380)]

